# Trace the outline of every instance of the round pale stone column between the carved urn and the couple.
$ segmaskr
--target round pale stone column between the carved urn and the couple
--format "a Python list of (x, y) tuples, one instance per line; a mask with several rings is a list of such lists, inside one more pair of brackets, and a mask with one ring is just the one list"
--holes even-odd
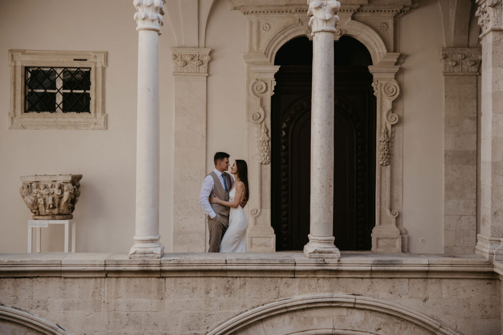
[(159, 36), (164, 0), (134, 0), (138, 31), (136, 230), (129, 258), (161, 258), (159, 242)]

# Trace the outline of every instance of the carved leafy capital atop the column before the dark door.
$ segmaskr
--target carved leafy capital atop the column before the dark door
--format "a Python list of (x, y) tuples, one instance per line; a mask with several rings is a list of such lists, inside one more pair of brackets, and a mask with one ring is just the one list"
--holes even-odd
[(337, 0), (308, 0), (309, 9), (307, 15), (309, 19), (309, 28), (311, 34), (317, 32), (337, 33), (336, 25), (339, 22), (339, 16), (336, 13), (341, 8), (341, 3)]

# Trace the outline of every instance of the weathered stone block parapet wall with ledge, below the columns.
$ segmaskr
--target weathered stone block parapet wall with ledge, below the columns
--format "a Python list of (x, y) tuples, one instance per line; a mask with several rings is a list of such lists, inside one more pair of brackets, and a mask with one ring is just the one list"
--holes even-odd
[[(125, 255), (29, 257), (1, 258), (0, 302), (72, 334), (278, 334), (343, 325), (500, 333), (500, 281), (477, 256), (171, 254), (148, 265)], [(256, 321), (243, 321), (246, 313)], [(19, 326), (0, 311), (2, 331)]]

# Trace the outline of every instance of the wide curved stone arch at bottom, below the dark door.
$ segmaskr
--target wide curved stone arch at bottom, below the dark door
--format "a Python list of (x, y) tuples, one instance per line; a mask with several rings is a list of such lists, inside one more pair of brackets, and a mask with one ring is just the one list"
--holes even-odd
[[(361, 322), (365, 319), (365, 322)], [(272, 302), (243, 312), (208, 334), (460, 334), (421, 312), (357, 295), (314, 295)]]

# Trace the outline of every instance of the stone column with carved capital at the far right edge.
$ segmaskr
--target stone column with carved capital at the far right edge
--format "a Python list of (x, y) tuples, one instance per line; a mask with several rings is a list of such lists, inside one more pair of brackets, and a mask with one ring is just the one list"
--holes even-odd
[(475, 253), (503, 260), (503, 9), (501, 0), (478, 0), (481, 27), (481, 198)]

